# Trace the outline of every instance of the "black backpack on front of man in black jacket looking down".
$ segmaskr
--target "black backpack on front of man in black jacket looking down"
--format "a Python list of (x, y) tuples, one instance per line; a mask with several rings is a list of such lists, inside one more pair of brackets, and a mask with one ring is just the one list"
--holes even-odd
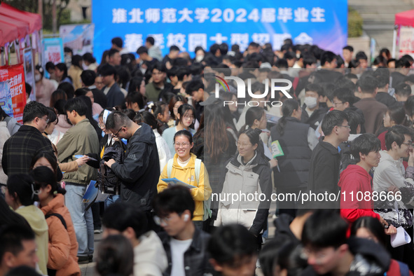
[(109, 195), (115, 195), (118, 191), (120, 179), (113, 173), (110, 167), (105, 165), (105, 161), (110, 159), (115, 160), (118, 164), (123, 164), (125, 158), (125, 149), (123, 142), (116, 142), (113, 146), (108, 146), (104, 150), (104, 156), (102, 156), (101, 162), (99, 163), (99, 172), (97, 178), (97, 184), (99, 190)]

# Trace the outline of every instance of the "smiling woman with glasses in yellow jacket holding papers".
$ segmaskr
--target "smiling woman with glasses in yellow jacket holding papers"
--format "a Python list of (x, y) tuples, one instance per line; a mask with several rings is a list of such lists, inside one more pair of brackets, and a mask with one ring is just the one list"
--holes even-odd
[[(193, 222), (195, 227), (202, 229), (204, 216), (204, 201), (209, 200), (212, 195), (212, 188), (209, 184), (209, 175), (203, 163), (200, 164), (200, 175), (195, 174), (195, 154), (191, 153), (193, 149), (193, 136), (187, 130), (180, 130), (174, 135), (175, 154), (173, 158), (171, 173), (168, 175), (168, 164), (165, 165), (158, 181), (158, 193), (168, 188), (168, 184), (163, 179), (176, 178), (186, 184), (195, 186), (191, 188), (191, 195), (195, 201), (195, 210)], [(198, 179), (198, 181), (197, 181)]]

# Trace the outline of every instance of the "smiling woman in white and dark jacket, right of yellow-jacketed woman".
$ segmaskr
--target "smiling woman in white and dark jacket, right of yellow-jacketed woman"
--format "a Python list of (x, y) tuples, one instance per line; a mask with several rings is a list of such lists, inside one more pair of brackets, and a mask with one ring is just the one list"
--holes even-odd
[[(226, 165), (223, 190), (219, 195), (219, 212), (214, 226), (240, 223), (258, 237), (268, 222), (272, 180), (270, 168), (256, 150), (260, 130), (243, 130), (237, 140), (239, 151)], [(212, 197), (212, 201), (217, 197)]]

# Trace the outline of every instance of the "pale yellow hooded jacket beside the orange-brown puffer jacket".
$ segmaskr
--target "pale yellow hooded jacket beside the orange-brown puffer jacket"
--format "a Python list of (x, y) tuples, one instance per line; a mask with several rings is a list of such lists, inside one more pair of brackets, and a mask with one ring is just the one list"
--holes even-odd
[(41, 210), (34, 206), (21, 206), (16, 213), (23, 216), (32, 228), (36, 237), (37, 251), (39, 257), (39, 268), (43, 275), (48, 275), (46, 264), (48, 263), (48, 223)]

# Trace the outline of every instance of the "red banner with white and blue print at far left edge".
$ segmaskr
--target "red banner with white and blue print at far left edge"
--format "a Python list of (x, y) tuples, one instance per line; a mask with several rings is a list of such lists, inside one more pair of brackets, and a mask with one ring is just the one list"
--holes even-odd
[(0, 106), (8, 114), (23, 121), (26, 105), (25, 68), (23, 64), (0, 67)]

